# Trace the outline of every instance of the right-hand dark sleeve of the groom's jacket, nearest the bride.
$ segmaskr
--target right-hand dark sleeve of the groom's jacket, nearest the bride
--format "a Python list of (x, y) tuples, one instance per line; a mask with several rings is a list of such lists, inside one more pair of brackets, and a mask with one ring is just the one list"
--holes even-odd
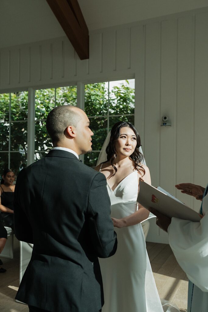
[(94, 177), (88, 197), (88, 225), (97, 256), (107, 258), (114, 255), (117, 238), (110, 218), (110, 199), (106, 179), (102, 173)]

